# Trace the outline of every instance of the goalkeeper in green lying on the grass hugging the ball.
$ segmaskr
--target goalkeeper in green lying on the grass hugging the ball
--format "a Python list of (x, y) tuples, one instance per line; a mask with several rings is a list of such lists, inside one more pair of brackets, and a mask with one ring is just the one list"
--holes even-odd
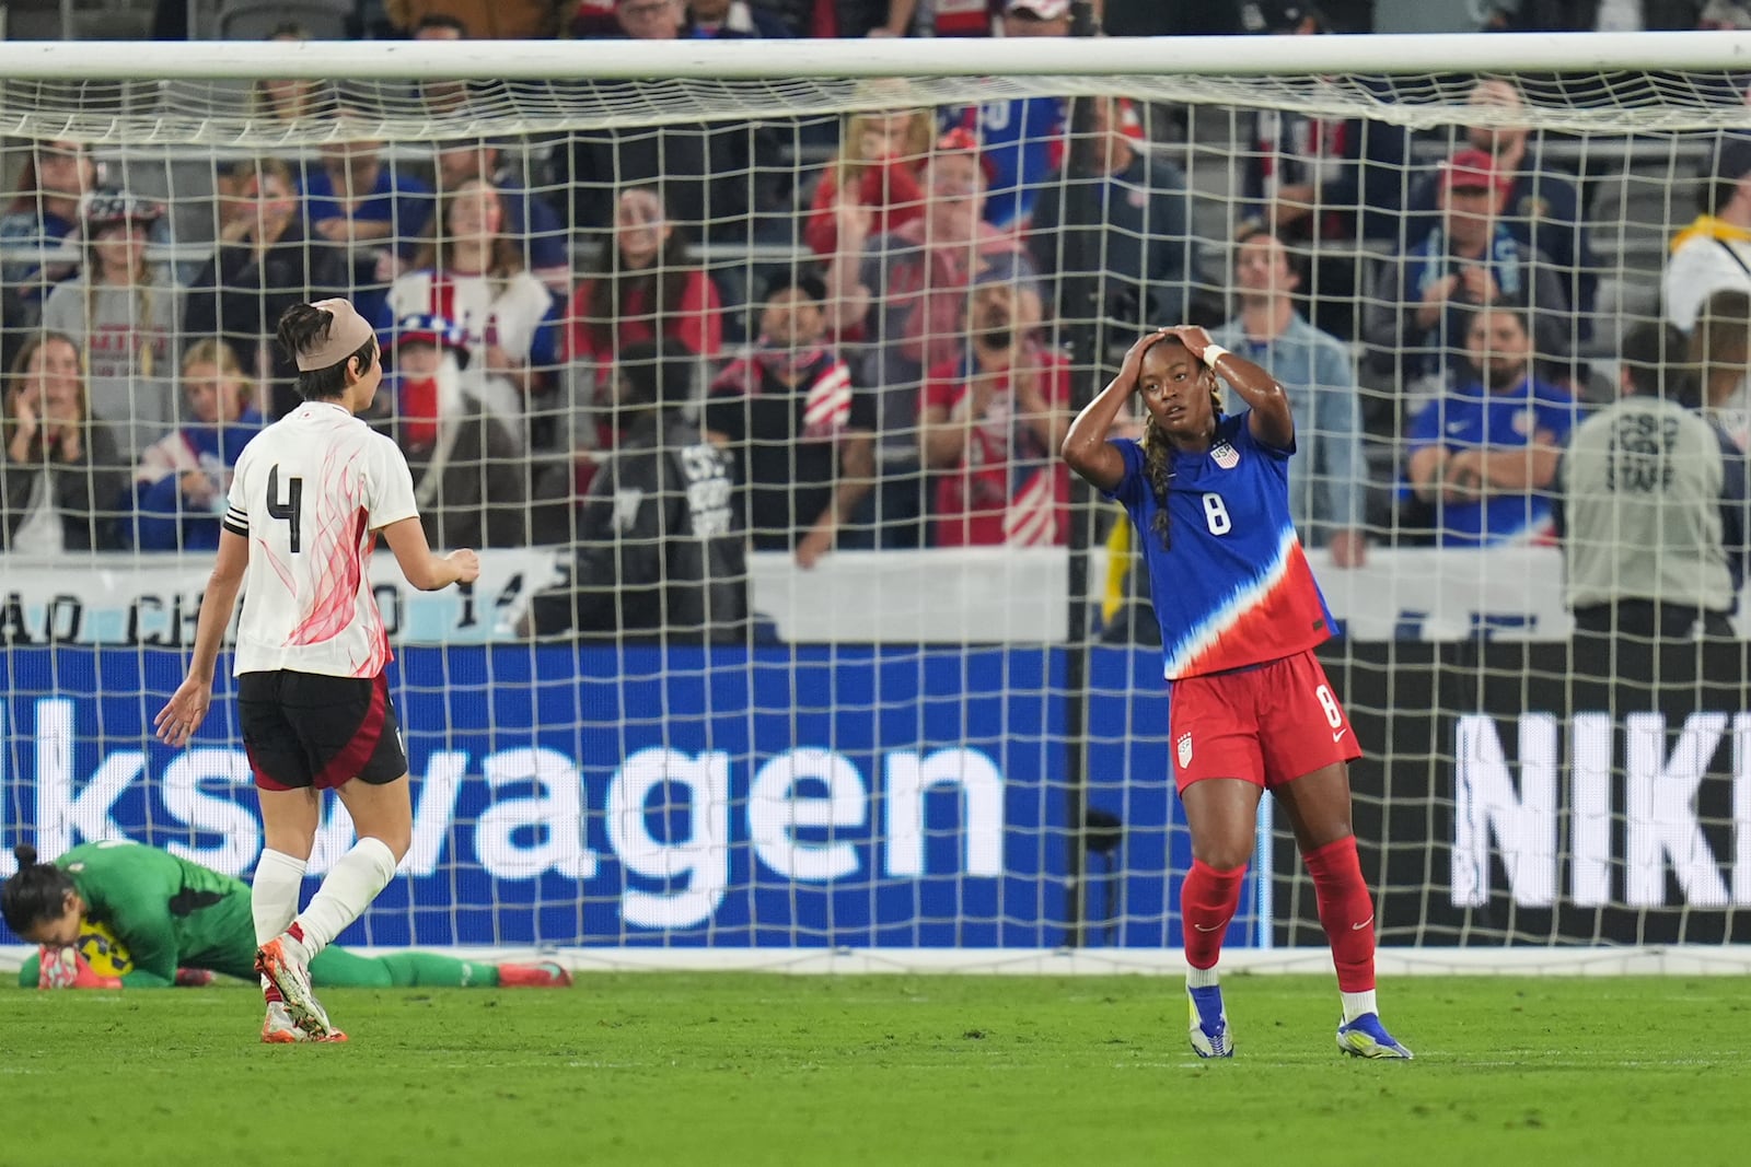
[[(0, 887), (0, 915), (14, 933), (42, 945), (25, 961), (21, 985), (163, 989), (210, 980), (200, 971), (257, 980), (247, 884), (128, 842), (84, 843), (54, 863), (37, 863), (33, 847), (14, 847), (12, 854), (18, 875)], [(431, 952), (361, 957), (329, 947), (310, 962), (310, 980), (340, 989), (557, 989), (571, 983), (571, 973), (552, 961), (483, 964)], [(308, 1036), (270, 1010), (261, 1039)]]

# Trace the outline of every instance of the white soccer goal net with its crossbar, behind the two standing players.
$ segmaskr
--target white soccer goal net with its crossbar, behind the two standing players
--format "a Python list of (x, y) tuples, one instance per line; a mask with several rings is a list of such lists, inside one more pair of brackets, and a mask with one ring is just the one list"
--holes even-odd
[[(1737, 551), (1698, 593), (1578, 528), (1557, 455), (1665, 322), (1672, 395), (1751, 432), (1747, 49), (0, 45), (0, 831), (247, 878), (235, 684), (187, 749), (151, 724), (229, 467), (299, 408), (278, 315), (347, 296), (431, 541), (482, 548), (438, 593), (369, 565), (415, 822), (348, 940), (1173, 966), (1191, 744), (1138, 535), (1056, 450), (1192, 322), (1294, 402), (1382, 943), (1725, 961)], [(1700, 465), (1621, 441), (1644, 490)], [(1609, 605), (1649, 569), (1660, 642)], [(350, 838), (331, 807), (312, 875)], [(1229, 947), (1324, 947), (1269, 803)]]

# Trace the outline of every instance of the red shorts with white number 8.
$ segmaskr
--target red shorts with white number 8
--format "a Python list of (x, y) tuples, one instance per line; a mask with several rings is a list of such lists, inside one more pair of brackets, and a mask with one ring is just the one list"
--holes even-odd
[(1245, 779), (1275, 789), (1362, 756), (1313, 653), (1168, 684), (1173, 784)]

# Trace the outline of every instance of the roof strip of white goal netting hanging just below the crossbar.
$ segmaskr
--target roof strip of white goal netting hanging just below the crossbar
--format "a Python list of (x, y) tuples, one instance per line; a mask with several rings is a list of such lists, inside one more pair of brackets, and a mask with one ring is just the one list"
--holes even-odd
[[(1469, 107), (1473, 73), (1345, 75), (968, 75), (883, 79), (427, 80), (303, 82), (310, 117), (280, 119), (261, 82), (19, 80), (0, 82), (0, 126), (16, 136), (79, 136), (116, 143), (287, 147), (345, 136), (431, 142), (466, 133), (513, 135), (611, 126), (676, 126), (883, 110), (897, 103), (965, 105), (1035, 94), (1124, 93), (1140, 101), (1243, 110), (1294, 108), (1320, 117), (1369, 117), (1413, 129), (1488, 124), (1504, 114)], [(275, 82), (268, 82), (271, 86)], [(280, 82), (289, 84), (289, 82)], [(1518, 73), (1546, 133), (1625, 135), (1744, 128), (1746, 73)], [(440, 101), (434, 115), (434, 96)], [(345, 108), (350, 119), (338, 121)]]

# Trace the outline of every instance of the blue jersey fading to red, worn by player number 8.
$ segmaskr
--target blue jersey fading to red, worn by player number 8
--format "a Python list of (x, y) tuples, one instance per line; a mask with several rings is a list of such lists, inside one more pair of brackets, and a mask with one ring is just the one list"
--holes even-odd
[(1201, 453), (1168, 453), (1168, 535), (1136, 441), (1112, 443), (1124, 479), (1108, 492), (1136, 523), (1168, 681), (1294, 656), (1331, 635), (1331, 611), (1289, 520), (1289, 450), (1266, 446), (1250, 411), (1217, 418)]

